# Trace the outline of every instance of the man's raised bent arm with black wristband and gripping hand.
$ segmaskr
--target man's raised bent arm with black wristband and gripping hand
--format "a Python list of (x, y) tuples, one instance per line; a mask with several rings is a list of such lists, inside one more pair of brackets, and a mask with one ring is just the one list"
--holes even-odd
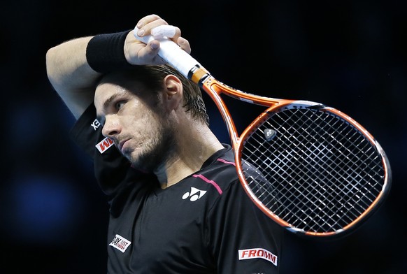
[[(151, 34), (159, 25), (167, 24), (158, 15), (148, 15), (138, 21), (138, 36)], [(172, 40), (190, 53), (190, 44), (180, 37), (175, 27)], [(71, 113), (78, 118), (94, 99), (97, 80), (103, 73), (123, 66), (163, 64), (157, 55), (159, 41), (145, 45), (138, 41), (133, 30), (117, 34), (101, 34), (66, 41), (48, 50), (46, 68), (48, 79)]]

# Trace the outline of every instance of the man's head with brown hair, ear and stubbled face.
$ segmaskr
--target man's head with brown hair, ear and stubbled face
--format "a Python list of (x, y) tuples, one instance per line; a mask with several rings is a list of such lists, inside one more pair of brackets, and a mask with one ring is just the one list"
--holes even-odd
[(168, 65), (134, 66), (103, 76), (94, 103), (103, 135), (134, 166), (148, 171), (171, 157), (180, 119), (208, 124), (199, 87)]

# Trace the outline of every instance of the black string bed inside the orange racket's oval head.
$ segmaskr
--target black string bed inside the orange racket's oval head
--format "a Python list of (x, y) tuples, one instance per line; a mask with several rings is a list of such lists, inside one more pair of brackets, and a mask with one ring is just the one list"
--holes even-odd
[[(276, 131), (271, 140), (264, 135), (269, 129)], [(383, 187), (376, 147), (327, 111), (274, 113), (246, 137), (241, 155), (247, 163), (245, 180), (257, 199), (305, 231), (342, 229), (369, 208)]]

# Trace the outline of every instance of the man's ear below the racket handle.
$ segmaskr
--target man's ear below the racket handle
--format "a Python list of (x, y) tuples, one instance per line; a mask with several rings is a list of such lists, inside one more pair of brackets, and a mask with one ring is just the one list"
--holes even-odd
[(176, 75), (166, 75), (164, 78), (164, 104), (166, 109), (176, 110), (182, 106), (183, 102), (183, 83)]

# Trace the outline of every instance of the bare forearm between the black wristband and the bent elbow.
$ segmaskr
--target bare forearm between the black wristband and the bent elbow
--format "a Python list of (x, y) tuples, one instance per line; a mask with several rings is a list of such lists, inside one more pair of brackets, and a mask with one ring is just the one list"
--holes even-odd
[(92, 103), (101, 75), (87, 63), (86, 48), (91, 38), (66, 41), (50, 48), (46, 55), (48, 79), (76, 118)]

